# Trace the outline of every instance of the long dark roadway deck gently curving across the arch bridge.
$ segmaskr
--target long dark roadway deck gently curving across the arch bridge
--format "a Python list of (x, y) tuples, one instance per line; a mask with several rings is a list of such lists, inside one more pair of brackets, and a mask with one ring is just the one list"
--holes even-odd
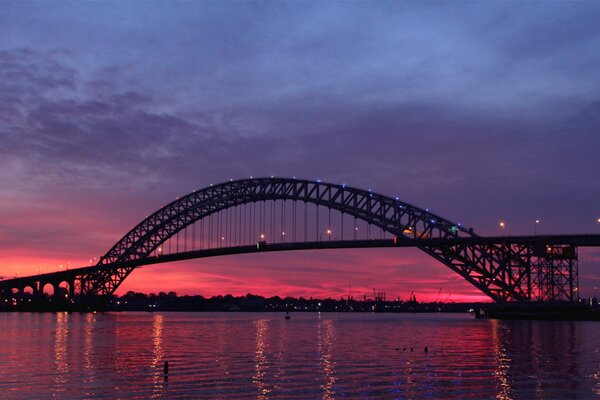
[[(382, 247), (423, 247), (444, 245), (477, 245), (477, 244), (519, 244), (525, 246), (559, 246), (570, 245), (577, 247), (600, 247), (600, 235), (536, 235), (536, 236), (472, 236), (449, 238), (407, 238), (397, 239), (371, 239), (371, 240), (328, 240), (298, 243), (257, 243), (249, 246), (222, 247), (186, 251), (174, 254), (162, 254), (147, 258), (120, 262), (121, 267), (141, 267), (144, 265), (161, 264), (173, 261), (183, 261), (196, 258), (218, 257), (234, 254), (255, 254), (274, 251), (291, 250), (317, 250), (317, 249), (352, 249), (352, 248), (382, 248)], [(0, 290), (27, 285), (38, 281), (72, 280), (74, 277), (92, 273), (94, 271), (109, 269), (112, 264), (93, 265), (72, 268), (65, 271), (50, 272), (20, 278), (4, 279), (0, 281)]]

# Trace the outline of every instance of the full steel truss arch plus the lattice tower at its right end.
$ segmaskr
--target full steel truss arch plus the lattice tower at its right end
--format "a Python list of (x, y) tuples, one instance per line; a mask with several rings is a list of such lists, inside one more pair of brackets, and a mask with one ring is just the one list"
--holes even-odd
[(576, 253), (574, 258), (561, 258), (554, 251), (536, 252), (535, 242), (486, 240), (472, 229), (398, 198), (286, 178), (230, 181), (178, 198), (131, 229), (95, 267), (73, 274), (69, 286), (80, 297), (110, 295), (143, 260), (187, 226), (228, 208), (267, 200), (312, 203), (377, 226), (398, 241), (419, 239), (422, 244), (416, 247), (496, 301), (573, 300), (576, 296)]

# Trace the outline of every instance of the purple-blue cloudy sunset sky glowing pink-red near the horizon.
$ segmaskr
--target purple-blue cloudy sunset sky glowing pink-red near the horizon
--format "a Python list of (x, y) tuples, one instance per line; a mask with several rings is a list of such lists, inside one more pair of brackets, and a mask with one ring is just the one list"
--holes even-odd
[[(598, 2), (11, 2), (0, 11), (0, 275), (100, 257), (249, 176), (372, 188), (481, 235), (600, 233)], [(580, 252), (582, 295), (600, 250)], [(179, 294), (482, 300), (414, 249), (144, 267)]]

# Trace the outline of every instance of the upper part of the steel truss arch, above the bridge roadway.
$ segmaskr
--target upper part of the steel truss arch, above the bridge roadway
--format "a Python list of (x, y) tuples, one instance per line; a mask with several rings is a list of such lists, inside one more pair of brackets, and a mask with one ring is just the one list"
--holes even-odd
[(167, 204), (132, 228), (98, 265), (148, 257), (167, 239), (198, 220), (231, 207), (268, 200), (303, 201), (327, 207), (397, 237), (475, 236), (460, 224), (370, 190), (302, 179), (254, 178), (211, 185)]

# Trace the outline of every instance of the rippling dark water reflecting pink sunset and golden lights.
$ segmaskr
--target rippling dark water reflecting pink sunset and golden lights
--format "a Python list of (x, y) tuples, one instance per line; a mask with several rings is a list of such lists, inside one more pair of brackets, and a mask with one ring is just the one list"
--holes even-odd
[(589, 399), (599, 333), (450, 314), (2, 313), (0, 398)]

